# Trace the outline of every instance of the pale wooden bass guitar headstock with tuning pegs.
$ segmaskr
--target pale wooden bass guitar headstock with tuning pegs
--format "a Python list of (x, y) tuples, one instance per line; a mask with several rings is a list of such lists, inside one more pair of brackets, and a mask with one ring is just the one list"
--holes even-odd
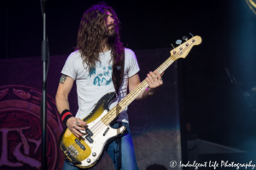
[(183, 42), (183, 44), (179, 45), (177, 48), (171, 50), (171, 56), (175, 59), (183, 58), (185, 59), (189, 54), (189, 51), (195, 45), (201, 44), (201, 37), (195, 36), (191, 37), (188, 41)]

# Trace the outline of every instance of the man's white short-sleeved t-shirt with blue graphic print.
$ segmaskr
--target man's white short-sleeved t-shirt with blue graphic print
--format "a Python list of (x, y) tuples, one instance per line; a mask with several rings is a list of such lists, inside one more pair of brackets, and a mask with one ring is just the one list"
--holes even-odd
[[(83, 59), (79, 51), (70, 54), (61, 71), (62, 74), (73, 78), (77, 82), (77, 93), (79, 99), (79, 111), (76, 117), (83, 119), (88, 116), (94, 109), (96, 103), (103, 95), (109, 92), (115, 92), (112, 81), (112, 61), (111, 50), (100, 53), (99, 59), (101, 62), (96, 63), (96, 68), (87, 71), (86, 64), (83, 65)], [(123, 68), (121, 68), (123, 69)], [(128, 77), (132, 77), (139, 71), (137, 58), (131, 49), (125, 48), (125, 71), (124, 79), (119, 88), (119, 96), (113, 99), (109, 109), (117, 105), (121, 99), (127, 94)], [(117, 119), (118, 122), (128, 122), (127, 109), (125, 108)]]

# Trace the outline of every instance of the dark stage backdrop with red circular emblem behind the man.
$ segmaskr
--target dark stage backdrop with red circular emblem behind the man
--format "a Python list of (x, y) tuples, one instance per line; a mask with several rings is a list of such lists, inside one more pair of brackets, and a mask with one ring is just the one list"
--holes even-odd
[[(170, 56), (170, 49), (136, 50), (141, 81)], [(61, 169), (64, 155), (58, 139), (65, 127), (55, 107), (55, 94), (61, 69), (68, 55), (51, 56), (48, 74), (48, 165)], [(17, 56), (19, 57), (19, 56)], [(39, 169), (41, 167), (40, 99), (42, 64), (40, 57), (0, 60), (0, 169)], [(178, 169), (170, 161), (181, 160), (177, 64), (165, 71), (158, 94), (134, 101), (129, 106), (131, 134), (140, 169)], [(78, 110), (76, 86), (69, 95), (70, 109)], [(111, 170), (108, 154), (96, 170)]]

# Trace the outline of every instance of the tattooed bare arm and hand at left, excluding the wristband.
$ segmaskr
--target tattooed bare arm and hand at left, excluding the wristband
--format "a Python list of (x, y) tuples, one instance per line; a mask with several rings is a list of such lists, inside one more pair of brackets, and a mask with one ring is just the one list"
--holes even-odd
[[(57, 94), (55, 96), (57, 110), (60, 114), (64, 110), (69, 110), (68, 94), (73, 87), (73, 82), (73, 78), (67, 77), (66, 75), (61, 76), (59, 87), (57, 89)], [(82, 133), (80, 133), (79, 130), (85, 130), (85, 126), (86, 122), (83, 122), (79, 118), (70, 117), (67, 120), (67, 128), (78, 138), (79, 136), (82, 136)]]

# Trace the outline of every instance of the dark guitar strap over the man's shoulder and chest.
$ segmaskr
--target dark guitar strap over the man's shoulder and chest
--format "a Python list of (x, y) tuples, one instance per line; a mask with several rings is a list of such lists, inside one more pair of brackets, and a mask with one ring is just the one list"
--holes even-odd
[(125, 55), (123, 59), (119, 59), (118, 62), (113, 64), (112, 69), (113, 69), (113, 74), (112, 74), (113, 86), (116, 94), (119, 95), (119, 88), (122, 85), (124, 71), (125, 71)]

